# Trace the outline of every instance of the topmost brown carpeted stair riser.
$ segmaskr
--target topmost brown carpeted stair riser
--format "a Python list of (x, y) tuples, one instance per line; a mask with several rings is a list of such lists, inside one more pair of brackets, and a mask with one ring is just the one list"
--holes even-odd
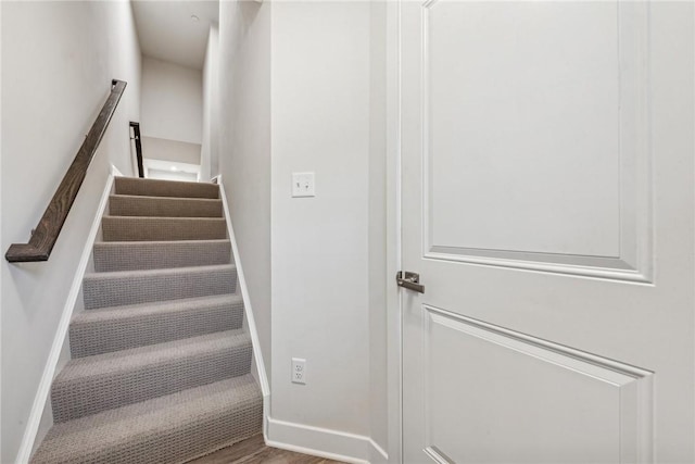
[(115, 192), (116, 195), (140, 195), (147, 197), (219, 198), (219, 186), (203, 183), (116, 177)]

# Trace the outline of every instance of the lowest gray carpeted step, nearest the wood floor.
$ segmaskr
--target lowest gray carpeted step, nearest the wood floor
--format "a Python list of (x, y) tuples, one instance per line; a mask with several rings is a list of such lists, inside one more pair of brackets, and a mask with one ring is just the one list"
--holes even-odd
[[(182, 430), (188, 431), (189, 436), (199, 432), (207, 438), (214, 429), (219, 429), (219, 423), (225, 419), (229, 422), (230, 416), (233, 424), (239, 424), (235, 416), (248, 421), (249, 413), (240, 413), (257, 411), (262, 407), (262, 402), (261, 391), (251, 374), (182, 390), (56, 424), (48, 432), (31, 462), (122, 462), (131, 453), (135, 457), (127, 462), (144, 463), (152, 457), (138, 453), (142, 453), (143, 448), (149, 449), (155, 439), (165, 443), (160, 444), (163, 450), (169, 450), (172, 442), (185, 439)], [(253, 415), (258, 416), (260, 427), (261, 415)], [(244, 431), (250, 434), (245, 429)], [(228, 430), (226, 432), (230, 434)], [(227, 442), (232, 443), (248, 436), (250, 435), (230, 436)], [(198, 437), (191, 437), (193, 442), (195, 438)], [(205, 443), (201, 444), (204, 446)], [(186, 451), (197, 453), (195, 450)], [(176, 452), (177, 450), (170, 450), (173, 455)], [(159, 455), (156, 462), (184, 462), (195, 455)]]

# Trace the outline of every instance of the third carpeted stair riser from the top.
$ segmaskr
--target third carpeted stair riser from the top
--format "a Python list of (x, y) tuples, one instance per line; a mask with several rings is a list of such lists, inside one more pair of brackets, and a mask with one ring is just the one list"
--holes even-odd
[(217, 240), (227, 238), (222, 218), (104, 216), (104, 241)]

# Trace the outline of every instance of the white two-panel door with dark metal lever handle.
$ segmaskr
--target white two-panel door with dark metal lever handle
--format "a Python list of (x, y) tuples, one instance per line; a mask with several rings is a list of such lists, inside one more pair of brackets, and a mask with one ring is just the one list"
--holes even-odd
[(693, 3), (399, 15), (404, 461), (693, 463)]

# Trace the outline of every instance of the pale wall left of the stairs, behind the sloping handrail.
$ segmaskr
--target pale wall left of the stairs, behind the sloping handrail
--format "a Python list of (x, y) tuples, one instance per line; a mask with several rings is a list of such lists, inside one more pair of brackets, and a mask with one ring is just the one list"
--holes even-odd
[(2, 260), (2, 450), (14, 462), (83, 244), (113, 163), (132, 175), (129, 121), (140, 115), (140, 50), (128, 1), (1, 2), (2, 253), (25, 242), (112, 78), (128, 81), (51, 258)]

